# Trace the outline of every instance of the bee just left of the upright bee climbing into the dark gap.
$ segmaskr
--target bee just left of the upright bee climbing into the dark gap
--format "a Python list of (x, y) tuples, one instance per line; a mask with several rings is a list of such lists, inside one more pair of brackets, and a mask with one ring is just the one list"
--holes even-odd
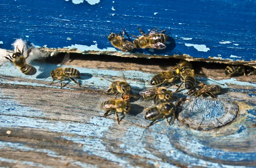
[(151, 85), (159, 86), (165, 85), (166, 83), (171, 83), (177, 79), (177, 75), (175, 71), (164, 71), (158, 74), (155, 74), (150, 81)]

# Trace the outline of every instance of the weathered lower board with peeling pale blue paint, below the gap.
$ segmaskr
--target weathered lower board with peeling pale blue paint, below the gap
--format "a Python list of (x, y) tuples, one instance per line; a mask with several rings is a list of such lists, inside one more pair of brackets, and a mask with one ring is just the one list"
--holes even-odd
[[(151, 101), (131, 99), (131, 114), (120, 125), (114, 115), (102, 117), (100, 104), (113, 98), (102, 94), (110, 84), (102, 76), (116, 76), (115, 67), (121, 64), (113, 64), (113, 70), (73, 67), (82, 74), (82, 87), (69, 82), (63, 89), (60, 83), (50, 85), (51, 79), (44, 80), (56, 64), (32, 62), (38, 69), (34, 76), (22, 74), (12, 63), (0, 66), (0, 166), (256, 166), (255, 76), (247, 77), (250, 82), (237, 81), (204, 70), (224, 84), (224, 93), (217, 97), (239, 105), (237, 117), (227, 125), (199, 131), (178, 120), (170, 126), (160, 120), (147, 129), (144, 108), (151, 107)], [(124, 74), (135, 93), (149, 87), (150, 73), (131, 68)], [(186, 92), (181, 90), (175, 97), (186, 97)]]

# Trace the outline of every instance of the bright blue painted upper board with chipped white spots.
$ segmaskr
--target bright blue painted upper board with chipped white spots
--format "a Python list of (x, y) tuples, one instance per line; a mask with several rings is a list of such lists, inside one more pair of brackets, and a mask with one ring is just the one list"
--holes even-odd
[(157, 26), (172, 34), (167, 48), (133, 52), (245, 61), (256, 56), (256, 2), (251, 0), (3, 0), (0, 10), (0, 47), (6, 49), (22, 38), (49, 48), (115, 51), (105, 36), (111, 28), (140, 35), (137, 27)]

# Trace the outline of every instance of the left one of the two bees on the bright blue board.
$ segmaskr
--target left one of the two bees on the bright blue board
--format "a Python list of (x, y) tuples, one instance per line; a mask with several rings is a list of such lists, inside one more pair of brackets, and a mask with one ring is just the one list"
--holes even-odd
[[(113, 30), (113, 28), (112, 28), (112, 30)], [(111, 30), (110, 35), (108, 36), (108, 41), (110, 41), (114, 47), (118, 48), (122, 52), (131, 52), (135, 48), (133, 43), (131, 43), (128, 40), (125, 40), (125, 38), (124, 38), (125, 28), (123, 28), (122, 37), (120, 36), (121, 31), (119, 34), (114, 34), (114, 33), (112, 33), (112, 30)]]

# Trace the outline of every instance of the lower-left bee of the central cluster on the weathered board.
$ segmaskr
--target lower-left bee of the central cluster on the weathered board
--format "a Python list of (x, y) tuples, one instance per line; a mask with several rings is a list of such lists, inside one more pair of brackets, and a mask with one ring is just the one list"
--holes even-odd
[(118, 113), (129, 114), (131, 103), (125, 100), (112, 99), (103, 102), (100, 107), (102, 110), (106, 111), (104, 116), (108, 116), (109, 112), (114, 111), (116, 114), (116, 121), (119, 124), (120, 120)]

